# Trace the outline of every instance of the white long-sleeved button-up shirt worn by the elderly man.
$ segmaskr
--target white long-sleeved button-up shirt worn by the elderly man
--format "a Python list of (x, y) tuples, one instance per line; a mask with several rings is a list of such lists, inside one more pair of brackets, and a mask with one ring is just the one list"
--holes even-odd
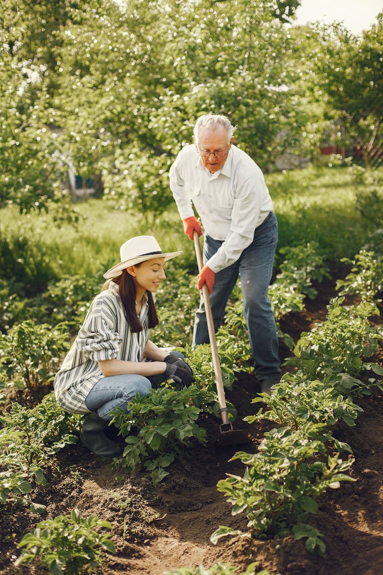
[(260, 167), (235, 145), (215, 174), (204, 167), (195, 145), (186, 145), (177, 155), (169, 179), (181, 218), (194, 216), (194, 204), (207, 235), (223, 241), (206, 262), (214, 272), (237, 261), (273, 209)]

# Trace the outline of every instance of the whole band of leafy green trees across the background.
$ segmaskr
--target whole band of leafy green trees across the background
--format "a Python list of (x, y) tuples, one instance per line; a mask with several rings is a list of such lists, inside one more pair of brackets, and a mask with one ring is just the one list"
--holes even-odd
[(382, 14), (355, 37), (292, 27), (299, 3), (3, 4), (0, 205), (61, 204), (71, 167), (150, 224), (172, 204), (168, 168), (206, 112), (231, 118), (264, 171), (286, 153), (292, 166), (315, 159), (329, 141), (374, 167)]

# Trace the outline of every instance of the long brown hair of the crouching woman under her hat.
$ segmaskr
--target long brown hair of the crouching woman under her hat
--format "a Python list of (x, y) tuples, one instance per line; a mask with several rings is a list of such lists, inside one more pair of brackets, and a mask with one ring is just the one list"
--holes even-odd
[[(138, 267), (141, 264), (136, 263), (135, 265)], [(129, 324), (130, 330), (133, 333), (142, 331), (144, 328), (142, 327), (141, 321), (137, 317), (136, 313), (136, 284), (134, 283), (133, 277), (128, 274), (126, 270), (122, 270), (122, 274), (113, 278), (111, 281), (118, 285), (119, 297), (121, 298), (123, 308), (125, 309), (126, 321)], [(109, 283), (109, 281), (105, 282), (103, 289), (107, 289)], [(149, 304), (148, 325), (149, 328), (152, 328), (158, 325), (158, 316), (152, 293), (146, 290), (146, 295), (148, 296)]]

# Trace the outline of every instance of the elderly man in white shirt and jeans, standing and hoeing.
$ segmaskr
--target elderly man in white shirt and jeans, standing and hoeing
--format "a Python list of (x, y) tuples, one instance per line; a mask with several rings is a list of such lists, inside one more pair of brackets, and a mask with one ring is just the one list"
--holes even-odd
[[(257, 379), (270, 392), (281, 377), (276, 324), (268, 286), (278, 241), (277, 218), (264, 175), (255, 162), (233, 145), (234, 127), (220, 114), (201, 116), (194, 144), (186, 145), (170, 170), (170, 187), (193, 239), (204, 228), (204, 267), (198, 289), (206, 283), (214, 327), (222, 322), (227, 300), (241, 278), (243, 314), (247, 322)], [(208, 343), (203, 298), (195, 315), (193, 346)]]

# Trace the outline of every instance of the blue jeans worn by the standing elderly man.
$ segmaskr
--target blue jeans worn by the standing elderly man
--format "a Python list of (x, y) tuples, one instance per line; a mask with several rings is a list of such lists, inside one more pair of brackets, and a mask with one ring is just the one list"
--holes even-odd
[[(250, 346), (258, 381), (266, 377), (280, 375), (278, 358), (277, 328), (268, 296), (273, 272), (274, 255), (278, 241), (278, 224), (274, 212), (254, 232), (250, 246), (243, 250), (237, 262), (215, 274), (215, 282), (210, 294), (210, 305), (215, 331), (222, 323), (230, 294), (238, 275), (241, 277), (243, 294), (243, 315), (249, 331)], [(222, 245), (206, 235), (203, 247), (203, 262), (206, 263)], [(208, 329), (203, 298), (195, 314), (192, 347), (208, 343)]]

